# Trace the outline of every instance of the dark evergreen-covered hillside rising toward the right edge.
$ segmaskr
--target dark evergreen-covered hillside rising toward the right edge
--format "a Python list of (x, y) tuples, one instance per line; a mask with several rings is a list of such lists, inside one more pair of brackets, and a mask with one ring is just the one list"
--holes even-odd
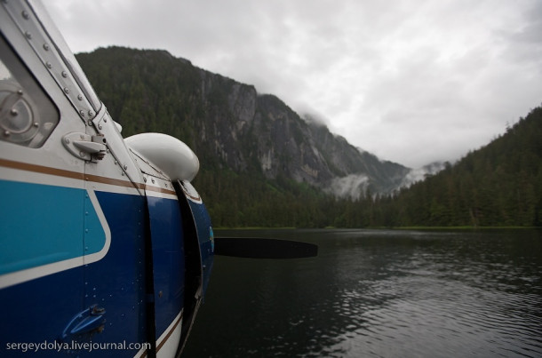
[(542, 107), (487, 146), (373, 208), (379, 218), (374, 225), (542, 226)]

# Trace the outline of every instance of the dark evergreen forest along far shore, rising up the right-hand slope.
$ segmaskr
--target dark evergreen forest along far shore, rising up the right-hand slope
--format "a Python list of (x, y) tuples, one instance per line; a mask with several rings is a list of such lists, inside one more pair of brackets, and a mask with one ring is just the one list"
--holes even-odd
[(541, 227), (542, 107), (489, 145), (394, 195), (337, 199), (287, 179), (202, 174), (196, 185), (218, 226)]

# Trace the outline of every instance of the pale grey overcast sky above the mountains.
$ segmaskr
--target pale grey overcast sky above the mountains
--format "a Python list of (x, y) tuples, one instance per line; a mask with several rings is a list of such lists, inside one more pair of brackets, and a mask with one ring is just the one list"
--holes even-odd
[(74, 52), (167, 50), (410, 167), (454, 161), (542, 104), (539, 0), (45, 3)]

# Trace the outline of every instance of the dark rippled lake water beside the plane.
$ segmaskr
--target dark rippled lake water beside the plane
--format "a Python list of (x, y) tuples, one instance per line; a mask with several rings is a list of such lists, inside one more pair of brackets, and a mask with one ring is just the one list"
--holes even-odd
[(542, 231), (240, 230), (314, 259), (217, 257), (184, 357), (542, 357)]

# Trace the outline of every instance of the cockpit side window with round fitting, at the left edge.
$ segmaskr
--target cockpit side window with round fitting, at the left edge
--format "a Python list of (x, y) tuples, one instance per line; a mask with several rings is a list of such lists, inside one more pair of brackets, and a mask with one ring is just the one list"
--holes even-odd
[(59, 112), (0, 36), (0, 140), (41, 147), (59, 123)]

